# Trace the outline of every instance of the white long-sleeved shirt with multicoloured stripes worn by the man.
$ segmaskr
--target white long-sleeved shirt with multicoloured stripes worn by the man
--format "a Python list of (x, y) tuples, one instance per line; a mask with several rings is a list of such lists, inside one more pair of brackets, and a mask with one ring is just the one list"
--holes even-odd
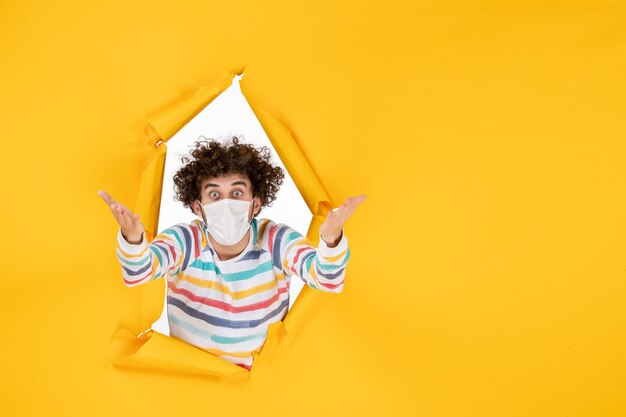
[(220, 260), (199, 219), (165, 229), (152, 242), (130, 244), (118, 231), (124, 285), (165, 276), (170, 336), (250, 370), (270, 324), (285, 318), (292, 276), (331, 293), (343, 290), (350, 259), (343, 233), (317, 248), (282, 223), (253, 217), (251, 239), (238, 256)]

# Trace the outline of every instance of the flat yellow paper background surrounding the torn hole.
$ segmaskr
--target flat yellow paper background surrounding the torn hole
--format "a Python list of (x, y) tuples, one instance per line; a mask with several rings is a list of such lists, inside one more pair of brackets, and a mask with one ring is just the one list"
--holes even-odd
[[(3, 2), (0, 415), (625, 415), (625, 17)], [(133, 205), (150, 116), (244, 66), (331, 201), (368, 196), (345, 290), (252, 381), (115, 368), (144, 289), (96, 191)]]

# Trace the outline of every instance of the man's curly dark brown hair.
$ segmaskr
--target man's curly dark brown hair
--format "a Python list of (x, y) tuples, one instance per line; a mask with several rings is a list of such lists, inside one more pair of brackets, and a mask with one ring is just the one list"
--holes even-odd
[(267, 146), (256, 149), (239, 143), (237, 136), (223, 144), (215, 139), (197, 140), (189, 156), (181, 157), (183, 166), (174, 175), (175, 198), (193, 212), (193, 202), (200, 200), (202, 181), (240, 174), (250, 180), (253, 197), (261, 199), (262, 207), (269, 207), (285, 178), (284, 170), (270, 162), (271, 156)]

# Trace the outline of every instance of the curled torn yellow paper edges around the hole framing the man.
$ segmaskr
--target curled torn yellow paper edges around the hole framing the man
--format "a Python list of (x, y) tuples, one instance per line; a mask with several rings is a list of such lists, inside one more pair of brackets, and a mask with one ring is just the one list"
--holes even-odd
[[(242, 76), (243, 71), (241, 74), (229, 73), (211, 86), (200, 87), (191, 97), (147, 118), (146, 132), (150, 136), (151, 143), (159, 150), (142, 173), (135, 211), (142, 219), (146, 219), (144, 225), (149, 240), (157, 232), (163, 185), (166, 147), (159, 146), (159, 143), (167, 142), (226, 90), (235, 77), (239, 79)], [(242, 85), (242, 93), (246, 96), (244, 85)], [(319, 226), (324, 222), (333, 205), (291, 132), (268, 112), (251, 103), (247, 96), (246, 99), (313, 214), (306, 237), (313, 244), (317, 244)], [(151, 323), (159, 317), (163, 308), (163, 288), (162, 286), (142, 285), (138, 290), (141, 291), (140, 326), (141, 329), (147, 330), (136, 336), (128, 329), (118, 329), (110, 341), (111, 362), (118, 367), (195, 373), (220, 378), (251, 376), (263, 369), (267, 358), (278, 343), (284, 340), (287, 334), (293, 334), (298, 328), (298, 323), (306, 320), (307, 315), (311, 314), (310, 306), (315, 293), (315, 290), (305, 286), (285, 319), (269, 326), (265, 344), (259, 353), (253, 353), (254, 363), (252, 370), (248, 373), (246, 369), (225, 359), (181, 340), (149, 330)]]

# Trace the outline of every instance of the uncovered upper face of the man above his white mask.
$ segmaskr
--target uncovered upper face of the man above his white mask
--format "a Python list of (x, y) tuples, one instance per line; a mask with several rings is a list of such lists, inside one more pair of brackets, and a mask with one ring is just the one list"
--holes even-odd
[[(229, 174), (222, 177), (206, 178), (200, 184), (200, 201), (193, 204), (194, 212), (202, 216), (202, 206), (216, 203), (223, 199), (252, 201), (252, 184), (246, 175)], [(253, 213), (258, 213), (260, 200), (254, 198)], [(250, 219), (248, 219), (250, 220)]]

